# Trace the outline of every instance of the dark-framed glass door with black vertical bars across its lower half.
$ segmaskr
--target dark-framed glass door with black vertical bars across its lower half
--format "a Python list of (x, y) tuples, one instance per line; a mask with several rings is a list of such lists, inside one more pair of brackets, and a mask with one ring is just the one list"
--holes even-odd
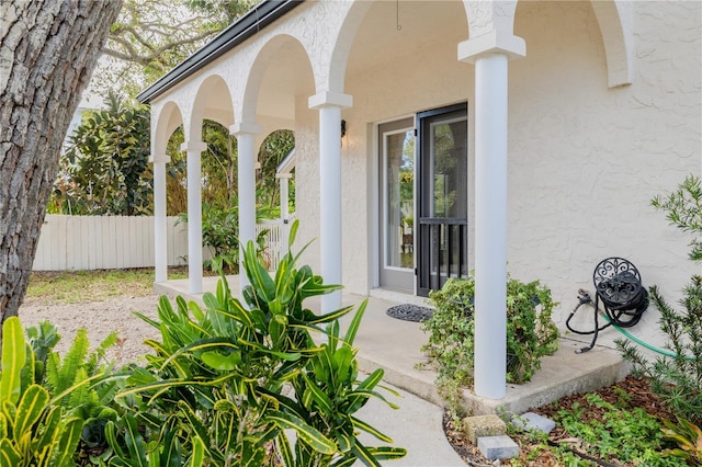
[(467, 275), (467, 104), (417, 115), (417, 293)]

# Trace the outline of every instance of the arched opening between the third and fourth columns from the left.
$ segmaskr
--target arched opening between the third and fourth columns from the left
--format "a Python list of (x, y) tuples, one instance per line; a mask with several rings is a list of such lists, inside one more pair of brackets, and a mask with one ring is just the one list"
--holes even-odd
[[(296, 185), (290, 174), (278, 176), (279, 163), (303, 141), (303, 146), (295, 149), (297, 167), (302, 166), (306, 173), (318, 170), (319, 156), (310, 146), (317, 138), (312, 123), (314, 113), (307, 107), (307, 99), (314, 90), (307, 52), (295, 37), (285, 34), (263, 45), (247, 78), (241, 122), (256, 123), (263, 130), (257, 137), (260, 145), (253, 155), (257, 158), (256, 234), (260, 243), (261, 236), (265, 236), (264, 260), (270, 269), (275, 269), (278, 260), (287, 251), (287, 221), (296, 195)], [(258, 139), (263, 135), (265, 138)], [(315, 187), (307, 186), (307, 190)], [(281, 194), (285, 200), (281, 200)], [(303, 229), (310, 234), (304, 234), (303, 238), (317, 237), (316, 227), (305, 223)]]

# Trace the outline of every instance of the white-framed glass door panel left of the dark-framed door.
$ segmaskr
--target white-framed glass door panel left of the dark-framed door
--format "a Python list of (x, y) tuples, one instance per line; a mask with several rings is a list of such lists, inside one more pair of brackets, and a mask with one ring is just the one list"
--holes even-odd
[(415, 293), (415, 118), (378, 127), (381, 287)]

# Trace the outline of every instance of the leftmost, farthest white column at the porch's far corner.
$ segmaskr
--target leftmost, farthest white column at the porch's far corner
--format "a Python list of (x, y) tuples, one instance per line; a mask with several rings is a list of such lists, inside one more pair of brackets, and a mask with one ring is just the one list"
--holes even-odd
[(156, 282), (168, 281), (168, 226), (166, 219), (166, 155), (151, 156), (154, 163), (154, 264)]

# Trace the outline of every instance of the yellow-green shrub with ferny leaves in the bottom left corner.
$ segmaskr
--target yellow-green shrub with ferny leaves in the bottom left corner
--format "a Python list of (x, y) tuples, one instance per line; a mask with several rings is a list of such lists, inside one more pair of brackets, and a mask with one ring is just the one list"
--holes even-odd
[[(107, 367), (98, 357), (110, 342), (88, 356), (84, 332), (61, 360), (53, 352), (56, 328), (30, 328), (26, 342), (18, 317), (2, 327), (0, 373), (0, 459), (8, 466), (70, 466), (81, 436), (90, 435), (114, 395), (101, 385)], [(87, 358), (87, 360), (86, 360)]]

